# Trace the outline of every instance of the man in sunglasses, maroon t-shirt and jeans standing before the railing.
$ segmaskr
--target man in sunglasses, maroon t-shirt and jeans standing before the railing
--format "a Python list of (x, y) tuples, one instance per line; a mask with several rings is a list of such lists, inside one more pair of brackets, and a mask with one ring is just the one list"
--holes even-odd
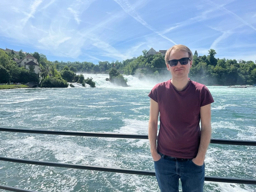
[(214, 100), (205, 85), (188, 78), (192, 59), (191, 50), (184, 45), (167, 50), (165, 63), (172, 79), (156, 84), (148, 95), (151, 98), (148, 139), (162, 192), (178, 192), (179, 179), (183, 192), (203, 191)]

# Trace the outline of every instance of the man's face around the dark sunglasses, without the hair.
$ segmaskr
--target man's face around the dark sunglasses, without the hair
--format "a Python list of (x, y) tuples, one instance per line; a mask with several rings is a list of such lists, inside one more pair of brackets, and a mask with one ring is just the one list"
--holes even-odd
[[(184, 57), (189, 57), (187, 52), (176, 52), (172, 51), (168, 57), (169, 60), (181, 59)], [(174, 79), (188, 78), (190, 67), (192, 67), (192, 61), (189, 60), (188, 64), (182, 65), (180, 62), (176, 66), (171, 67), (168, 63), (166, 64), (167, 69), (171, 72), (171, 76)]]

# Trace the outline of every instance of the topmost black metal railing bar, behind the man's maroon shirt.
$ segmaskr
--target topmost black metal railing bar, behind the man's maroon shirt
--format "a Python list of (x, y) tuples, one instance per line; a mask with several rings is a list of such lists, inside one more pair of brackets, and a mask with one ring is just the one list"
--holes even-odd
[[(40, 129), (17, 129), (17, 128), (3, 128), (3, 127), (0, 127), (0, 131), (20, 132), (20, 133), (36, 133), (36, 134), (52, 134), (52, 135), (87, 136), (87, 137), (111, 137), (111, 138), (123, 138), (123, 139), (148, 139), (148, 135), (120, 134), (120, 133), (52, 131), (52, 130), (40, 130)], [(247, 141), (247, 140), (231, 140), (231, 139), (211, 139), (211, 143), (256, 146), (256, 141), (250, 141), (250, 140)]]

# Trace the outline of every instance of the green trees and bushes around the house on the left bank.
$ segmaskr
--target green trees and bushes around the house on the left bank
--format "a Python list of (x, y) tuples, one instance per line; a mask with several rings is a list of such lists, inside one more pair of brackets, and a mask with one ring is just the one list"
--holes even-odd
[(92, 78), (85, 79), (82, 74), (75, 74), (67, 66), (63, 70), (58, 71), (54, 62), (48, 61), (46, 56), (38, 52), (30, 53), (39, 63), (42, 69), (41, 75), (35, 74), (33, 69), (28, 70), (24, 66), (18, 65), (12, 58), (24, 59), (26, 55), (20, 50), (17, 54), (0, 50), (0, 83), (39, 83), (41, 87), (67, 87), (68, 83), (81, 83), (83, 86), (89, 84), (95, 87), (95, 82)]

